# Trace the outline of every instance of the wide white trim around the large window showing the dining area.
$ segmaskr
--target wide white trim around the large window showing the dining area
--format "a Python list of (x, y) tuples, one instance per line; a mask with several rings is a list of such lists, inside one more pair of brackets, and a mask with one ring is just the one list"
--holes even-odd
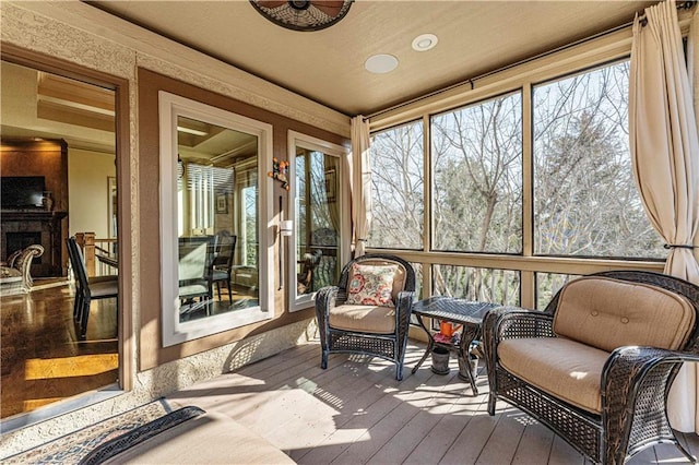
[[(272, 169), (272, 126), (212, 107), (189, 98), (158, 92), (161, 140), (161, 297), (163, 347), (181, 344), (246, 324), (269, 320), (274, 311), (272, 276), (273, 224), (272, 186), (262, 182)], [(210, 122), (258, 138), (258, 179), (260, 180), (260, 305), (245, 310), (193, 320), (179, 321), (178, 241), (177, 241), (177, 118), (179, 116)], [(265, 223), (266, 222), (266, 223)]]

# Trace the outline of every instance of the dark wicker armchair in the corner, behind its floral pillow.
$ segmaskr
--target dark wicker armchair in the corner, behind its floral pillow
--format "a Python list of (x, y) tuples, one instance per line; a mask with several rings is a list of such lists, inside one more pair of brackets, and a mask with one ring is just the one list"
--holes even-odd
[[(355, 272), (370, 270), (363, 266), (394, 269), (389, 303), (353, 303), (357, 282), (363, 282)], [(321, 368), (328, 367), (328, 356), (332, 353), (366, 354), (394, 362), (395, 379), (402, 380), (414, 295), (415, 272), (410, 263), (398, 257), (367, 254), (347, 263), (340, 284), (324, 287), (316, 296)]]

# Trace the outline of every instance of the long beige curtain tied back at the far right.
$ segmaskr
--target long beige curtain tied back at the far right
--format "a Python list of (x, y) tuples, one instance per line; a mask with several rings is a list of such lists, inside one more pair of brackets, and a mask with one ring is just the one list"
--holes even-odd
[[(633, 175), (653, 226), (670, 247), (665, 273), (699, 284), (690, 248), (699, 227), (699, 142), (675, 1), (633, 22), (629, 90)], [(673, 428), (699, 432), (698, 373), (685, 363), (672, 386)]]

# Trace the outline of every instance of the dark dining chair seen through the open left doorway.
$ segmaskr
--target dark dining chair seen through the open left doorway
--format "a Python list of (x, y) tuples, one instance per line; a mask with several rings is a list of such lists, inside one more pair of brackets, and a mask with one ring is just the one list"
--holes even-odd
[(78, 246), (75, 236), (66, 239), (68, 246), (68, 259), (70, 260), (73, 274), (78, 279), (75, 286), (75, 302), (73, 305), (73, 319), (80, 324), (79, 336), (84, 339), (87, 332), (87, 319), (90, 317), (90, 305), (93, 300), (119, 299), (119, 283), (117, 276), (87, 277), (87, 269), (83, 259), (83, 252)]

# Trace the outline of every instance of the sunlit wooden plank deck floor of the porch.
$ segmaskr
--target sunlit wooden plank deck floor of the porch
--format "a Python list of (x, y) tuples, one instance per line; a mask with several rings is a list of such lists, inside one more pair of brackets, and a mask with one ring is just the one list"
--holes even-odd
[[(424, 346), (408, 344), (403, 381), (378, 358), (332, 355), (320, 369), (320, 346), (306, 344), (168, 396), (230, 416), (299, 464), (587, 464), (570, 445), (522, 412), (499, 402), (486, 412), (481, 394), (457, 375), (433, 373)], [(699, 438), (683, 434), (695, 455)], [(687, 463), (673, 445), (630, 464)]]

